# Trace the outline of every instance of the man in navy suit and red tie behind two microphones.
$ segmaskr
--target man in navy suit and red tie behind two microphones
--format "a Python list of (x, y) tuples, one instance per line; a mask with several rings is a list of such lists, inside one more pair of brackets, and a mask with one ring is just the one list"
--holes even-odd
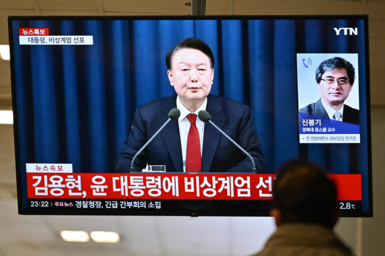
[(176, 95), (138, 107), (132, 130), (115, 159), (116, 172), (129, 172), (132, 157), (167, 120), (172, 108), (181, 112), (138, 155), (134, 170), (165, 165), (166, 171), (252, 172), (252, 163), (210, 123), (197, 118), (207, 110), (212, 121), (248, 151), (257, 171), (265, 170), (260, 141), (247, 105), (209, 95), (214, 79), (214, 55), (201, 39), (186, 38), (166, 55), (167, 75)]

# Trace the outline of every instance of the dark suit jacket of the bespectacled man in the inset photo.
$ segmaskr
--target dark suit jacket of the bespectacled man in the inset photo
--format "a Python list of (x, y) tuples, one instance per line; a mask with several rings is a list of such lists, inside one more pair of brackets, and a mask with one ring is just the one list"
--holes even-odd
[[(305, 107), (302, 107), (301, 109), (299, 109), (299, 111), (301, 113), (329, 118), (329, 115), (327, 114), (325, 108), (322, 105), (321, 99), (318, 99), (315, 103), (311, 103)], [(353, 124), (359, 124), (359, 110), (344, 104), (342, 121)]]

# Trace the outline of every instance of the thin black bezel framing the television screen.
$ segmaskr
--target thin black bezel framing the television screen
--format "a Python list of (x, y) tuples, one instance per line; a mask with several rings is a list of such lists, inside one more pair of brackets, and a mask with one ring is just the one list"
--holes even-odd
[[(68, 210), (62, 210), (60, 212), (47, 212), (46, 210), (41, 209), (23, 209), (22, 208), (22, 192), (21, 192), (21, 173), (20, 173), (20, 163), (19, 163), (19, 139), (18, 139), (18, 124), (17, 124), (17, 107), (16, 107), (16, 88), (15, 88), (15, 66), (14, 66), (14, 56), (13, 56), (13, 29), (12, 29), (12, 21), (13, 20), (176, 20), (176, 19), (269, 19), (269, 20), (279, 20), (279, 19), (363, 19), (365, 35), (364, 35), (364, 43), (365, 43), (365, 72), (366, 72), (366, 127), (367, 127), (367, 167), (368, 167), (368, 204), (369, 210), (365, 212), (342, 212), (342, 217), (372, 217), (373, 216), (373, 196), (372, 196), (372, 163), (371, 163), (371, 123), (370, 123), (370, 80), (369, 80), (369, 44), (368, 44), (368, 15), (204, 15), (204, 16), (191, 16), (191, 15), (156, 15), (156, 16), (148, 16), (148, 15), (132, 15), (132, 16), (122, 16), (122, 15), (90, 15), (90, 16), (68, 16), (68, 15), (44, 15), (44, 16), (8, 16), (9, 23), (9, 44), (10, 44), (10, 69), (11, 69), (11, 89), (12, 89), (12, 106), (14, 112), (14, 142), (15, 142), (15, 160), (16, 160), (16, 177), (17, 177), (17, 196), (18, 196), (18, 210), (19, 214), (45, 214), (45, 215), (175, 215), (175, 216), (269, 216), (269, 210), (271, 206), (271, 201), (267, 201), (265, 207), (267, 207), (266, 211), (260, 210), (250, 210), (244, 211), (240, 213), (239, 211), (205, 211), (205, 210), (185, 210), (185, 211), (161, 211), (161, 214), (157, 212), (148, 212), (148, 211), (135, 211), (133, 214), (122, 214), (122, 211), (119, 210), (111, 210), (109, 212), (96, 212), (90, 209), (87, 210), (78, 210), (76, 213)], [(361, 183), (362, 184), (362, 183)], [(28, 199), (28, 198), (26, 198)], [(174, 201), (176, 199), (172, 199)], [(218, 201), (218, 200), (212, 200)], [(223, 201), (223, 200), (222, 200)], [(228, 200), (234, 201), (234, 200)], [(243, 200), (250, 201), (248, 205), (252, 205), (255, 200)], [(233, 202), (232, 202), (233, 204)], [(244, 206), (246, 207), (246, 206)]]

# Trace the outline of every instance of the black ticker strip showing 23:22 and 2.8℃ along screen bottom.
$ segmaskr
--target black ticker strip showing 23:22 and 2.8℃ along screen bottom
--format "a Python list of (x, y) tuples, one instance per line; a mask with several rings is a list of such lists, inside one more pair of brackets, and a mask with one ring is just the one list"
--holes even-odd
[[(205, 204), (205, 202), (207, 203)], [(236, 207), (239, 213), (247, 212), (246, 215), (253, 215), (252, 212), (264, 211), (268, 213), (271, 201), (250, 201), (250, 200), (178, 200), (173, 199), (51, 199), (51, 198), (29, 198), (28, 209), (39, 213), (156, 213), (162, 212), (182, 212), (182, 211), (204, 211), (216, 210), (223, 214), (230, 206)], [(222, 207), (222, 208), (221, 208)], [(349, 216), (350, 213), (362, 212), (361, 201), (357, 200), (338, 200), (338, 208), (341, 212)], [(30, 212), (33, 213), (33, 212)], [(242, 215), (242, 214), (241, 214)]]

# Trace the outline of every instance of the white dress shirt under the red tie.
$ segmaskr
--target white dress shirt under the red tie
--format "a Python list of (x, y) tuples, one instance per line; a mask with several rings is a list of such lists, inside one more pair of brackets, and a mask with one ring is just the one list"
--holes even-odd
[[(207, 106), (207, 97), (203, 104), (194, 111), (198, 115), (199, 111), (206, 110)], [(190, 121), (187, 119), (187, 115), (190, 114), (188, 110), (179, 100), (179, 96), (176, 97), (176, 107), (180, 110), (180, 116), (178, 118), (179, 125), (179, 135), (180, 135), (180, 144), (182, 146), (182, 159), (183, 159), (183, 171), (186, 171), (186, 150), (187, 150), (187, 136), (188, 130), (190, 129)], [(202, 146), (203, 146), (203, 133), (205, 130), (205, 123), (197, 116), (196, 125), (199, 132), (199, 139), (201, 142), (201, 156), (202, 156)]]

